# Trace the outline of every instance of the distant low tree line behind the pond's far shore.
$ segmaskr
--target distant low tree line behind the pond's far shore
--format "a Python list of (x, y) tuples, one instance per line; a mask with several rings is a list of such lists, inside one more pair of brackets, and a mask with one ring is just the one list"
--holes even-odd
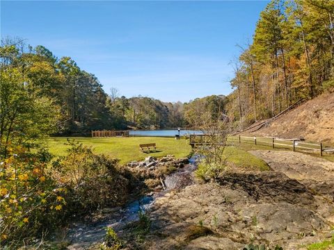
[[(116, 92), (116, 91), (111, 91)], [(225, 96), (212, 95), (186, 103), (167, 103), (150, 97), (111, 97), (108, 106), (118, 114), (118, 124), (129, 128), (193, 128), (201, 126), (200, 117), (209, 113), (212, 119), (225, 112)]]

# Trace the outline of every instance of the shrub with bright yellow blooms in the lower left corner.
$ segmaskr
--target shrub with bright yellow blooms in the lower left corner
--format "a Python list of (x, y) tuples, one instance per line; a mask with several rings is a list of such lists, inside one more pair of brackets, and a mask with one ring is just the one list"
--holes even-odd
[(0, 160), (1, 245), (29, 244), (26, 239), (47, 233), (58, 222), (66, 206), (65, 189), (47, 173), (50, 159), (46, 151), (17, 147)]

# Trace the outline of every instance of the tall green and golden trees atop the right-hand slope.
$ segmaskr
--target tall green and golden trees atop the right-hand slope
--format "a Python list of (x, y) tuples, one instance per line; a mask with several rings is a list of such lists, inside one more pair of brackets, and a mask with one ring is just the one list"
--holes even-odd
[(334, 1), (273, 0), (232, 61), (228, 115), (243, 128), (334, 87)]

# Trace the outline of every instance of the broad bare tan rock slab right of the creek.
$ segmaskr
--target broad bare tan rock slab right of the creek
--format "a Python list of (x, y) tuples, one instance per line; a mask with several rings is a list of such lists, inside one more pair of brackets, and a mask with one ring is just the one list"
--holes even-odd
[[(141, 247), (237, 250), (254, 242), (289, 250), (330, 240), (333, 163), (294, 152), (253, 153), (273, 171), (231, 172), (168, 192), (154, 203), (152, 231)], [(193, 226), (210, 233), (193, 233)]]

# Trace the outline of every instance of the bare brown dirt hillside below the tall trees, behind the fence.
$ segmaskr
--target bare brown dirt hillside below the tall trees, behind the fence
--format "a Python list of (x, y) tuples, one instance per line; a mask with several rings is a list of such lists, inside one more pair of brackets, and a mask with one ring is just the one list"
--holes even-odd
[(310, 142), (334, 144), (334, 94), (321, 94), (289, 110), (266, 126), (243, 134), (277, 138), (304, 138)]

